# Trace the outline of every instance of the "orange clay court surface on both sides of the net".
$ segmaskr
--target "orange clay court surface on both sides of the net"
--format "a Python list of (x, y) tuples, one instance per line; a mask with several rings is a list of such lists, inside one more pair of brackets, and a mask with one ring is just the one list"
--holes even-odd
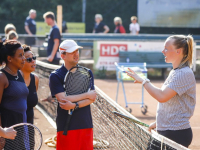
[[(155, 86), (161, 87), (164, 81), (151, 81)], [(117, 90), (117, 81), (116, 80), (95, 80), (95, 85), (97, 85), (102, 91), (104, 91), (108, 96), (110, 96), (113, 100), (116, 97), (116, 90)], [(141, 102), (141, 85), (133, 84), (131, 82), (126, 82), (125, 84), (126, 96), (128, 101), (139, 101)], [(190, 145), (190, 149), (192, 150), (199, 150), (200, 149), (200, 80), (197, 80), (196, 84), (196, 91), (197, 91), (197, 103), (196, 108), (194, 111), (194, 115), (191, 118), (191, 126), (193, 130), (193, 141)], [(144, 92), (144, 100), (145, 104), (148, 106), (148, 112), (146, 115), (141, 113), (140, 105), (131, 104), (129, 105), (132, 108), (132, 114), (140, 119), (141, 121), (149, 124), (155, 121), (156, 118), (156, 108), (157, 108), (157, 101), (153, 99), (146, 91)], [(119, 95), (118, 95), (118, 103), (125, 107), (125, 101), (123, 97), (122, 87), (119, 88)], [(47, 139), (49, 137), (53, 137), (56, 134), (56, 130), (50, 125), (47, 119), (37, 110), (35, 109), (35, 120), (34, 124), (39, 127), (43, 134), (43, 139)], [(43, 142), (41, 150), (50, 150), (55, 148), (50, 148), (46, 146)]]

